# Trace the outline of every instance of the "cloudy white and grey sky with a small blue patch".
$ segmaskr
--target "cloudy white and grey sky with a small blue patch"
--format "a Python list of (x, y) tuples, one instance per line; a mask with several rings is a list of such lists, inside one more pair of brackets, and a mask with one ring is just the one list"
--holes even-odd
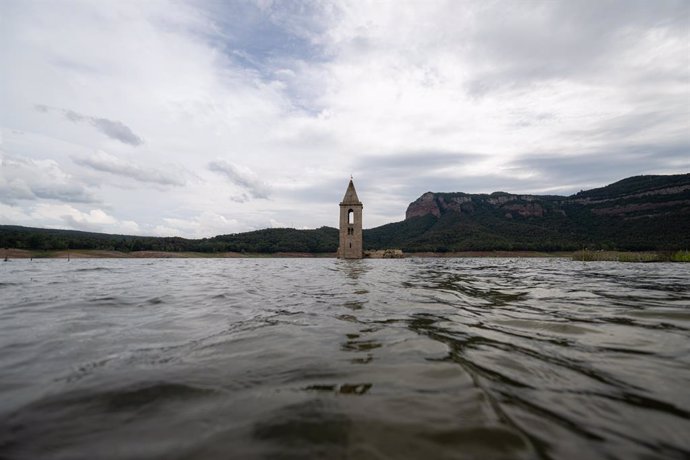
[(690, 172), (690, 2), (0, 0), (0, 224), (365, 227)]

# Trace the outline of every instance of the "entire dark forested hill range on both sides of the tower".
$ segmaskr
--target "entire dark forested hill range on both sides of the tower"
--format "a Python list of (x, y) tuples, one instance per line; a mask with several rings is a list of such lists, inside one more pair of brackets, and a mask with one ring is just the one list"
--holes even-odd
[[(690, 174), (636, 176), (568, 197), (427, 192), (404, 221), (364, 230), (365, 249), (690, 248)], [(213, 238), (113, 235), (0, 225), (0, 247), (34, 250), (335, 252), (338, 230), (273, 228)]]

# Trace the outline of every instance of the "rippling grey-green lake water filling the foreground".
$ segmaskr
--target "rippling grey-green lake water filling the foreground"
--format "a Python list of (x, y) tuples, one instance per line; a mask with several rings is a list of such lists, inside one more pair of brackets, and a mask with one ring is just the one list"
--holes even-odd
[(0, 458), (688, 458), (689, 268), (13, 260)]

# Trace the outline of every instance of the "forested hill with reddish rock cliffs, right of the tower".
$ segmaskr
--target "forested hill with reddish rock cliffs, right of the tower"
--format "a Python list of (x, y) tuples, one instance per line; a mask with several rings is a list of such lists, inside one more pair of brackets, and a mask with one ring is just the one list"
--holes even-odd
[(685, 249), (690, 174), (630, 177), (569, 197), (427, 192), (365, 242), (413, 252)]

